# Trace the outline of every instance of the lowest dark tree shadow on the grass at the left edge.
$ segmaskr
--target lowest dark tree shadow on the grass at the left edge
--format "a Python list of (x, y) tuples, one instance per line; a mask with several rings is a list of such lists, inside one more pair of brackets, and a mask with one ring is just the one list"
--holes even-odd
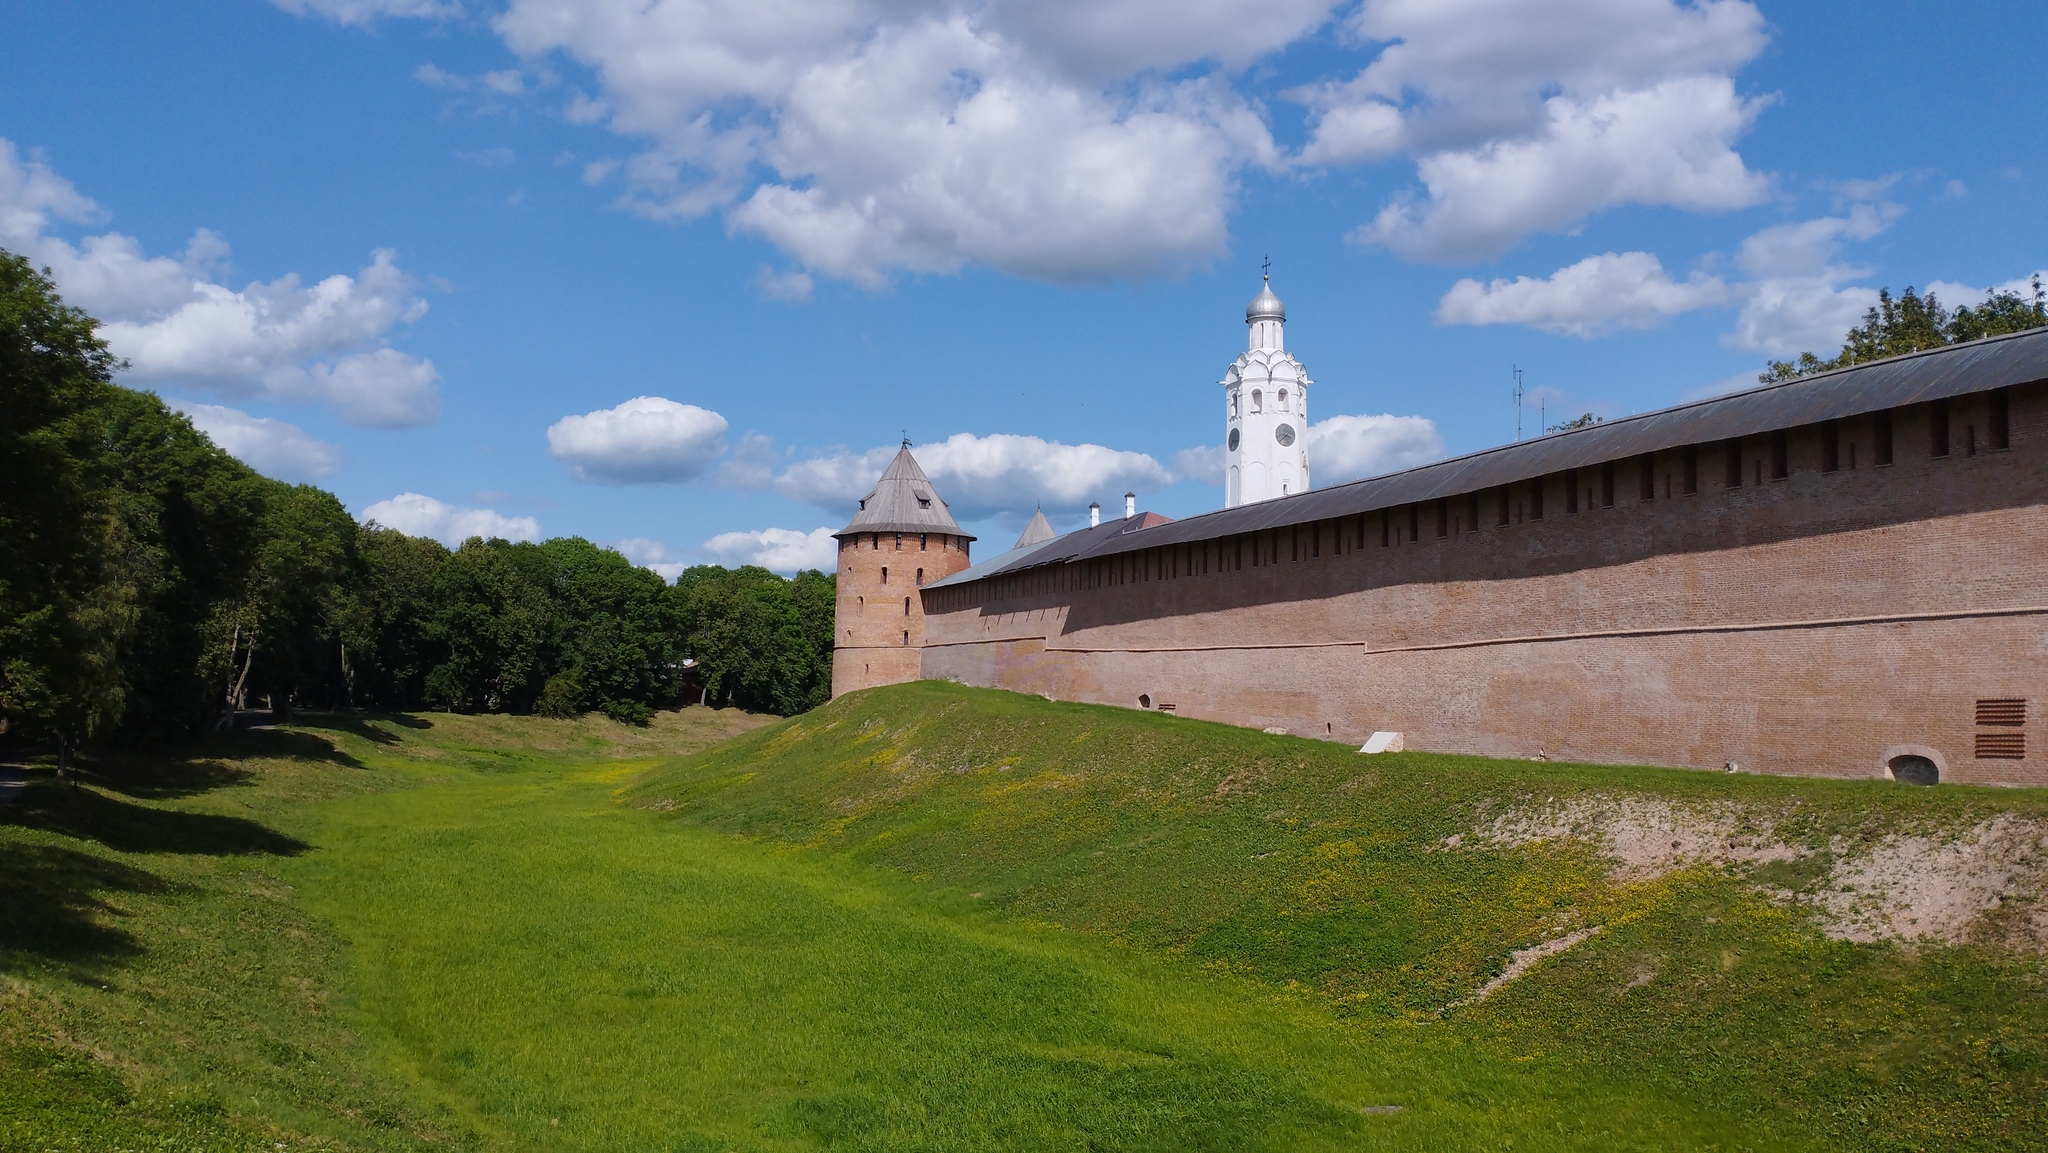
[(106, 924), (119, 915), (94, 893), (162, 893), (139, 868), (51, 844), (10, 844), (0, 852), (0, 969), (23, 960), (111, 965), (141, 952)]

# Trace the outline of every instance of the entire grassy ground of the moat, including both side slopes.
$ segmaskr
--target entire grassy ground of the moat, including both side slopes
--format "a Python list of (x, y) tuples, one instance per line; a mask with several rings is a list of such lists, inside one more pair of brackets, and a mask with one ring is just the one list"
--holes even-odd
[(909, 684), (0, 809), (0, 1149), (2042, 1149), (2042, 791)]

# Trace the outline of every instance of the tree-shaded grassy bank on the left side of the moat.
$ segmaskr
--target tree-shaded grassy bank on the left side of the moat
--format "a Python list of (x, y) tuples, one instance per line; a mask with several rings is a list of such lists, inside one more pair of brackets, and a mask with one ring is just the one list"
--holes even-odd
[(0, 809), (0, 1151), (489, 1147), (354, 1010), (348, 942), (301, 883), (334, 848), (324, 815), (756, 723), (309, 717), (100, 758), (78, 786), (31, 766)]

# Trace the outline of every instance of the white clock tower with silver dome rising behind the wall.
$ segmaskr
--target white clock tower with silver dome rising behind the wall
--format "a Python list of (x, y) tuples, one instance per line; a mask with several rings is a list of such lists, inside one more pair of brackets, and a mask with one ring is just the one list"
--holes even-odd
[(1272, 283), (1245, 309), (1251, 348), (1223, 375), (1223, 508), (1309, 492), (1309, 371), (1286, 352)]

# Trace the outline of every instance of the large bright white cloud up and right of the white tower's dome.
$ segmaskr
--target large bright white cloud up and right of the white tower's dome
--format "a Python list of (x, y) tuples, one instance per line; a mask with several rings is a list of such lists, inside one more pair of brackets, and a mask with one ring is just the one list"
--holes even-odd
[(1733, 143), (1761, 106), (1737, 96), (1726, 76), (1587, 100), (1552, 96), (1532, 137), (1425, 156), (1417, 172), (1427, 197), (1397, 197), (1354, 240), (1409, 260), (1470, 260), (1616, 205), (1749, 207), (1769, 193), (1769, 178), (1751, 172)]

